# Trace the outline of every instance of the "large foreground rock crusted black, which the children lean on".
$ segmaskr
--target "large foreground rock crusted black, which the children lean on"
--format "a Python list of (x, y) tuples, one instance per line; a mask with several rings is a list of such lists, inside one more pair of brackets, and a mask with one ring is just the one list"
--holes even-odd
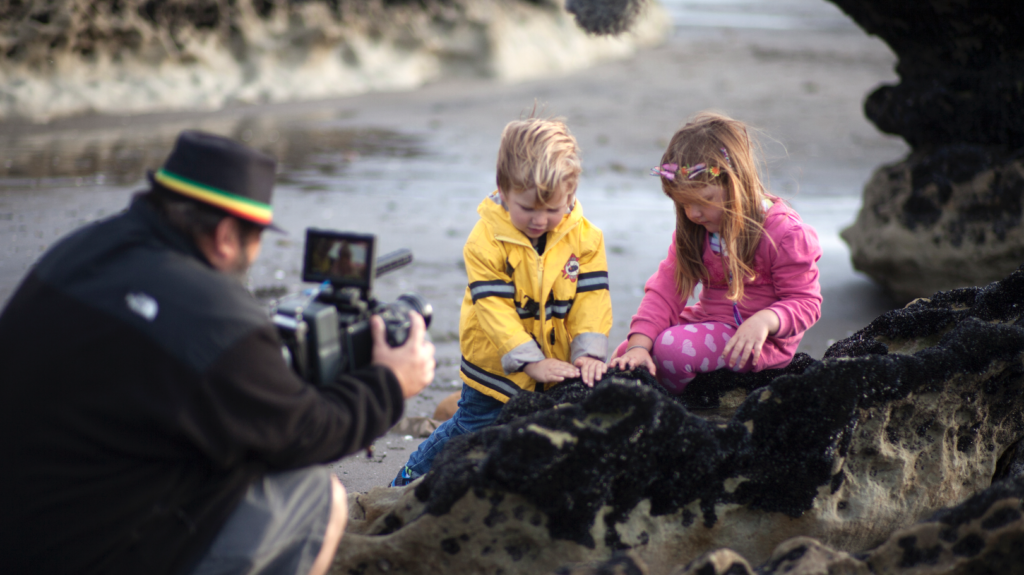
[[(643, 370), (510, 401), (402, 489), (352, 495), (336, 573), (539, 573), (631, 550), (857, 552), (1020, 468), (1024, 269), (889, 312), (775, 372)], [(687, 407), (689, 402), (689, 407)]]

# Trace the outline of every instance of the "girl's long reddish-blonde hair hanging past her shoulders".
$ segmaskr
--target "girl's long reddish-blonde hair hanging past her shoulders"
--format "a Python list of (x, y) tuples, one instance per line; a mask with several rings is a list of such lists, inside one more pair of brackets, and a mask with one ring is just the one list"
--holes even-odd
[[(676, 286), (683, 297), (693, 294), (701, 279), (710, 279), (703, 265), (705, 227), (686, 217), (686, 205), (711, 204), (699, 195), (709, 185), (721, 186), (723, 193), (722, 240), (723, 268), (728, 272), (728, 299), (743, 298), (743, 279), (753, 279), (754, 256), (764, 234), (764, 185), (758, 175), (756, 142), (743, 123), (705, 112), (680, 128), (662, 156), (662, 165), (718, 168), (714, 176), (706, 170), (692, 180), (677, 174), (674, 180), (662, 177), (662, 189), (676, 206)], [(722, 150), (725, 150), (723, 152)], [(727, 154), (727, 156), (726, 156)]]

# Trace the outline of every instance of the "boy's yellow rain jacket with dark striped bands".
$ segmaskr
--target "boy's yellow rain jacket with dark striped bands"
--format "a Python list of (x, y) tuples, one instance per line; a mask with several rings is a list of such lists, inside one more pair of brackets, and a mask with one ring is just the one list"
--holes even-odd
[(543, 255), (512, 225), (497, 191), (476, 211), (480, 221), (463, 250), (462, 381), (506, 402), (555, 385), (539, 385), (522, 371), (526, 363), (583, 355), (604, 361), (611, 329), (604, 236), (583, 217), (580, 201), (548, 232)]

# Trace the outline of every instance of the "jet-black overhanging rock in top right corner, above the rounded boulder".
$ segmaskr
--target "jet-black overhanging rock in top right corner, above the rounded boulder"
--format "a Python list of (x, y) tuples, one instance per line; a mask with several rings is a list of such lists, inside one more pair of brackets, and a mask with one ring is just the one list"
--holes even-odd
[(914, 149), (1024, 146), (1024, 4), (829, 1), (899, 56), (900, 83), (878, 88), (864, 103), (883, 132)]

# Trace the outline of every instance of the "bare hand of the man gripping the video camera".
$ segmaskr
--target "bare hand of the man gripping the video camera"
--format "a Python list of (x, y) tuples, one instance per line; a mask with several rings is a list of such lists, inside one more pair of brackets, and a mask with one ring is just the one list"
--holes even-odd
[(406, 399), (423, 391), (434, 381), (434, 344), (426, 341), (426, 325), (423, 316), (410, 312), (412, 326), (404, 345), (392, 348), (387, 345), (384, 320), (380, 316), (370, 318), (370, 333), (374, 338), (374, 364), (391, 369)]

